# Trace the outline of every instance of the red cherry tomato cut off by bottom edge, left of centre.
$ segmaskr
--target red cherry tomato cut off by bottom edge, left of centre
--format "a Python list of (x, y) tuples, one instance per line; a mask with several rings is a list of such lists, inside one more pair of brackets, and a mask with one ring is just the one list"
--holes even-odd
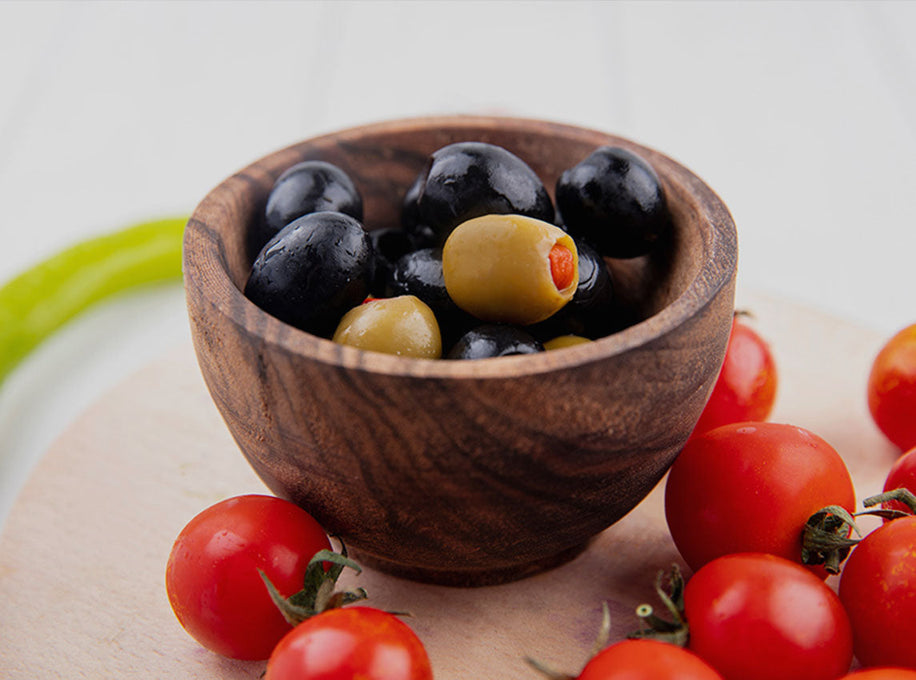
[(370, 607), (331, 609), (277, 645), (264, 680), (432, 680), (423, 643), (398, 617)]

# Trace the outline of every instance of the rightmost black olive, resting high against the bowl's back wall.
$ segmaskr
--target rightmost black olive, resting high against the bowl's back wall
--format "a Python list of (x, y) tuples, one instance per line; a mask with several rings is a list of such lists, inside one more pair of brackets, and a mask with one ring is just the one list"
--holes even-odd
[(560, 175), (556, 197), (566, 230), (608, 257), (645, 255), (671, 230), (658, 175), (626, 149), (592, 152)]

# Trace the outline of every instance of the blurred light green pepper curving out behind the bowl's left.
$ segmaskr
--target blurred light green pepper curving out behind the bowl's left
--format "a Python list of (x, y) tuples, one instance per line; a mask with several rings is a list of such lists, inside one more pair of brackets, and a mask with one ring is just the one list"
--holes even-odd
[(73, 245), (0, 288), (0, 383), (29, 352), (91, 305), (181, 276), (187, 218), (144, 222)]

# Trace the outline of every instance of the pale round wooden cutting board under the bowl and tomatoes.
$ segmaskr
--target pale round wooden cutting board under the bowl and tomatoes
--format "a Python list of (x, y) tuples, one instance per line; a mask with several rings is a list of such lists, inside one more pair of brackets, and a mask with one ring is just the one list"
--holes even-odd
[[(811, 309), (740, 296), (780, 371), (772, 420), (833, 444), (859, 497), (880, 491), (898, 452), (865, 403), (885, 338)], [(0, 677), (258, 678), (262, 662), (200, 648), (174, 618), (164, 574), (172, 541), (206, 506), (265, 492), (226, 431), (190, 346), (129, 378), (47, 452), (0, 537)], [(657, 488), (572, 562), (477, 589), (429, 586), (365, 571), (380, 608), (407, 610), (437, 680), (535, 680), (532, 655), (578, 671), (600, 622), (613, 639), (655, 602), (659, 569), (680, 561)], [(349, 581), (354, 581), (349, 578)]]

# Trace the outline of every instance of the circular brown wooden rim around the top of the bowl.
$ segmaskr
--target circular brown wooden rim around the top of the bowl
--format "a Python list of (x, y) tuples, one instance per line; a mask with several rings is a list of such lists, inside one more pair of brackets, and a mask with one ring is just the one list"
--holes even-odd
[[(702, 209), (703, 222), (709, 228), (702, 236), (705, 250), (703, 262), (688, 285), (654, 315), (611, 335), (550, 352), (520, 356), (492, 357), (473, 361), (418, 359), (381, 352), (361, 350), (341, 345), (280, 321), (263, 311), (245, 297), (222, 266), (220, 230), (214, 222), (226, 220), (233, 214), (237, 191), (251, 191), (253, 178), (263, 178), (263, 166), (271, 159), (294, 153), (297, 148), (313, 144), (328, 144), (362, 137), (415, 130), (418, 127), (441, 129), (449, 127), (478, 128), (494, 131), (511, 127), (518, 131), (541, 134), (546, 129), (588, 141), (606, 139), (607, 143), (623, 143), (637, 153), (645, 154), (663, 177), (674, 177), (686, 185), (695, 203)], [(198, 204), (188, 220), (184, 234), (183, 276), (186, 297), (191, 311), (191, 290), (197, 292), (214, 310), (265, 345), (275, 346), (291, 355), (300, 355), (323, 364), (358, 372), (391, 376), (436, 379), (515, 378), (562, 371), (596, 360), (608, 359), (650, 344), (689, 320), (707, 307), (717, 293), (735, 276), (737, 270), (737, 233), (734, 220), (721, 198), (697, 175), (651, 147), (631, 139), (618, 137), (586, 127), (532, 118), (509, 116), (448, 115), (400, 118), (345, 128), (311, 137), (273, 151), (247, 165), (213, 188)]]

